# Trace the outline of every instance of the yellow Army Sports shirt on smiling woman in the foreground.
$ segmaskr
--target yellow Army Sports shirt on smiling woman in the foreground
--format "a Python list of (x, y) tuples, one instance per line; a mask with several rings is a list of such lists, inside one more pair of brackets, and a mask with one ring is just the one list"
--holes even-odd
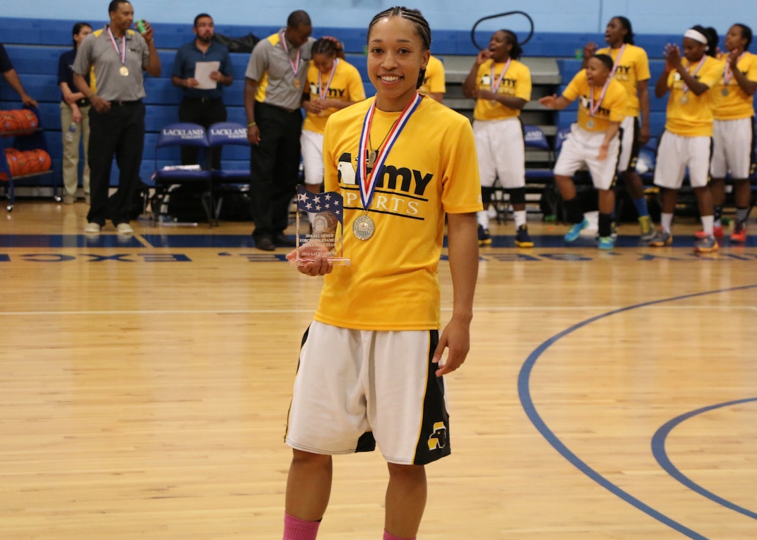
[[(344, 256), (351, 263), (325, 276), (315, 318), (359, 330), (436, 329), (445, 213), (482, 209), (473, 130), (465, 116), (422, 98), (388, 154), (369, 206), (375, 232), (363, 241), (352, 227), (363, 215), (357, 155), (372, 101), (339, 110), (326, 123), (325, 191), (344, 196)], [(399, 116), (375, 111), (374, 144)]]

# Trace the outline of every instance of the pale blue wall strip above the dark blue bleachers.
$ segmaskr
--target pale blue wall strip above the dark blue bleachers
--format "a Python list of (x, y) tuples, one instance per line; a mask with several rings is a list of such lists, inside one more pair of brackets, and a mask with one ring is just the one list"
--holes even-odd
[[(107, 20), (109, 0), (0, 0), (2, 17)], [(469, 30), (476, 20), (503, 11), (522, 10), (534, 19), (537, 32), (603, 32), (613, 15), (625, 15), (636, 33), (683, 33), (694, 24), (714, 26), (724, 34), (732, 23), (743, 22), (757, 31), (757, 2), (729, 0), (718, 4), (708, 0), (134, 0), (135, 15), (153, 22), (192, 23), (195, 15), (207, 11), (219, 24), (283, 26), (291, 11), (305, 9), (313, 26), (360, 28), (373, 15), (394, 5), (419, 8), (432, 29)], [(522, 17), (484, 23), (479, 29), (506, 26), (516, 31), (527, 28)], [(2, 36), (0, 36), (2, 40)]]

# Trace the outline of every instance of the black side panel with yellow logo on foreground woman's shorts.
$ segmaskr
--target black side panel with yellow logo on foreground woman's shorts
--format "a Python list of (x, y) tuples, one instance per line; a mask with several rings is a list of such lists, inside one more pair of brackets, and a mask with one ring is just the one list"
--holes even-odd
[(416, 457), (413, 464), (425, 465), (450, 455), (450, 415), (444, 404), (444, 379), (437, 377), (435, 371), (438, 365), (431, 363), (436, 346), (439, 343), (439, 332), (432, 330), (428, 347), (428, 374), (426, 392), (423, 399), (423, 418), (421, 431), (416, 445)]

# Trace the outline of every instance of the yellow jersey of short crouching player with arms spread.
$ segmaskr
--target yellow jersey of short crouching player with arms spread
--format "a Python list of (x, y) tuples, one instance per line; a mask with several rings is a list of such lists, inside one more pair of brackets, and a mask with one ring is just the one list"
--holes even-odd
[[(602, 88), (594, 87), (594, 106), (597, 107), (602, 95)], [(586, 70), (581, 70), (575, 74), (572, 81), (562, 92), (562, 97), (568, 101), (578, 100), (578, 125), (587, 132), (606, 132), (610, 122), (621, 122), (628, 114), (628, 92), (620, 82), (615, 79), (609, 79), (607, 92), (599, 103), (599, 108), (590, 114), (590, 96), (591, 88), (586, 78)]]

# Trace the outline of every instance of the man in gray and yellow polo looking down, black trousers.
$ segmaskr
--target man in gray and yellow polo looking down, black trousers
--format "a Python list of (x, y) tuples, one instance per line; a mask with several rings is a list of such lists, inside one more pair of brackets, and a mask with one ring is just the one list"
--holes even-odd
[(294, 11), (279, 33), (260, 40), (245, 73), (245, 112), (250, 153), (250, 198), (260, 250), (294, 247), (284, 234), (300, 167), (302, 96), (310, 64), (313, 26)]

